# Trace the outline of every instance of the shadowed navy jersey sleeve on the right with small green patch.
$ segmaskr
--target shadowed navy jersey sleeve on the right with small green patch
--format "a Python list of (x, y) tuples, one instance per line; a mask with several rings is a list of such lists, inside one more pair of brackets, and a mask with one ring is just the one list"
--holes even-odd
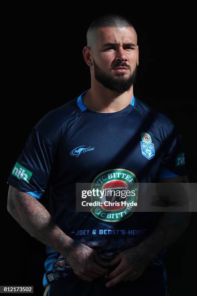
[(187, 175), (183, 137), (173, 127), (167, 134), (165, 153), (161, 161), (158, 178), (174, 178)]

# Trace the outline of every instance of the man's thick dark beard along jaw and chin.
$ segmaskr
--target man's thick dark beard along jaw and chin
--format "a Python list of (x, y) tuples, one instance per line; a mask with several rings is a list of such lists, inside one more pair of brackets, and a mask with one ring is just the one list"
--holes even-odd
[[(94, 62), (94, 75), (95, 79), (102, 84), (105, 88), (111, 89), (116, 91), (118, 94), (122, 94), (126, 91), (128, 91), (131, 86), (135, 83), (136, 77), (137, 77), (137, 64), (132, 74), (130, 74), (129, 77), (125, 77), (124, 73), (119, 73), (116, 76), (111, 76), (109, 74), (106, 74), (103, 70), (99, 68), (99, 66), (96, 64), (95, 60)], [(124, 62), (118, 66), (127, 66)]]

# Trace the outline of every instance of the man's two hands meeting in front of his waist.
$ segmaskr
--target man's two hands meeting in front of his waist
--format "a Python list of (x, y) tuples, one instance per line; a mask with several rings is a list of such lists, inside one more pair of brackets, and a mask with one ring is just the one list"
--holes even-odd
[[(104, 261), (99, 254), (84, 244), (77, 244), (69, 254), (70, 266), (84, 281), (105, 277), (107, 287), (121, 281), (135, 281), (147, 268), (151, 258), (138, 246), (127, 249), (113, 258)], [(112, 270), (113, 269), (113, 270)]]

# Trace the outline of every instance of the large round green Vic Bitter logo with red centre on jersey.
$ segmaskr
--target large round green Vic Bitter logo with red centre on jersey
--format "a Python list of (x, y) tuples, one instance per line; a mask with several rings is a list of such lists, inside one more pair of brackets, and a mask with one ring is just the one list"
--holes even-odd
[(118, 222), (127, 219), (135, 211), (135, 206), (131, 206), (131, 203), (137, 202), (138, 199), (138, 180), (134, 173), (121, 168), (104, 171), (94, 179), (92, 189), (105, 192), (102, 199), (98, 195), (92, 197), (93, 202), (102, 203), (100, 207), (91, 208), (96, 218), (102, 221)]

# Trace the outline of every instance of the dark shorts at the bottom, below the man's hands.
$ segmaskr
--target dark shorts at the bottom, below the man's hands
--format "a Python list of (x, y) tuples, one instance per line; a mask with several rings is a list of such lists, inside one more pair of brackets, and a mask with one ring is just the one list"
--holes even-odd
[(136, 281), (120, 282), (111, 288), (108, 279), (84, 281), (72, 272), (68, 277), (51, 282), (47, 296), (168, 296), (166, 272), (161, 264), (148, 266)]

